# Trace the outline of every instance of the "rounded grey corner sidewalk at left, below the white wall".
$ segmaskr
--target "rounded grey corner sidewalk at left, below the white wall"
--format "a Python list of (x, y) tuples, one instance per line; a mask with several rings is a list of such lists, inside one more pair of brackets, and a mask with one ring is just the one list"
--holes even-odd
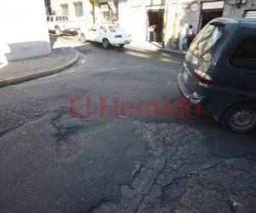
[(79, 60), (73, 48), (52, 49), (50, 55), (10, 61), (0, 69), (0, 87), (61, 72)]

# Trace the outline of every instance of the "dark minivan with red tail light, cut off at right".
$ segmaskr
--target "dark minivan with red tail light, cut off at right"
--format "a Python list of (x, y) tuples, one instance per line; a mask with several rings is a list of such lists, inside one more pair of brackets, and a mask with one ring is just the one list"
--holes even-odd
[(178, 74), (185, 101), (225, 128), (256, 127), (256, 20), (212, 20), (195, 37)]

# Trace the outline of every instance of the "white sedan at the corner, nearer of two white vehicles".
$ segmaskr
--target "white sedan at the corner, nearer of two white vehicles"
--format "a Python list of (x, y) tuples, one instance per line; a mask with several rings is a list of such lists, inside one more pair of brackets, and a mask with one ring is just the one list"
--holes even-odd
[(131, 34), (126, 33), (119, 26), (102, 24), (92, 26), (89, 30), (81, 29), (79, 39), (84, 43), (86, 41), (102, 43), (103, 48), (108, 49), (110, 45), (123, 47), (125, 44), (131, 43)]

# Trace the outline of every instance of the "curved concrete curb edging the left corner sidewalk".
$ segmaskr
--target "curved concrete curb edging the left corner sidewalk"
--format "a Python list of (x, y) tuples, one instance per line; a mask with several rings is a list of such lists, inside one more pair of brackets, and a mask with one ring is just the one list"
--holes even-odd
[(67, 62), (66, 64), (57, 66), (57, 67), (54, 67), (54, 68), (51, 68), (48, 70), (44, 70), (44, 71), (41, 71), (38, 73), (32, 73), (32, 74), (28, 74), (25, 76), (19, 76), (19, 77), (15, 77), (15, 78), (6, 78), (3, 80), (0, 80), (0, 87), (6, 87), (9, 85), (30, 81), (30, 80), (33, 80), (36, 78), (42, 78), (42, 77), (54, 75), (56, 73), (66, 70), (70, 66), (73, 66), (79, 60), (79, 57), (80, 57), (79, 51), (76, 49), (73, 49), (73, 50), (75, 51), (76, 56), (73, 60)]

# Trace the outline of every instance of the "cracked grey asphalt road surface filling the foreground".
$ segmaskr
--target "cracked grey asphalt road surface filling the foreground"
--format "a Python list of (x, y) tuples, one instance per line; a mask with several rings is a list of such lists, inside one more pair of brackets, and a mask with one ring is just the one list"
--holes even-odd
[[(177, 100), (182, 57), (75, 37), (57, 46), (78, 49), (79, 62), (0, 89), (0, 212), (256, 212), (256, 133), (234, 135), (206, 115), (98, 116), (101, 96)], [(93, 116), (70, 117), (70, 98), (86, 95)]]

